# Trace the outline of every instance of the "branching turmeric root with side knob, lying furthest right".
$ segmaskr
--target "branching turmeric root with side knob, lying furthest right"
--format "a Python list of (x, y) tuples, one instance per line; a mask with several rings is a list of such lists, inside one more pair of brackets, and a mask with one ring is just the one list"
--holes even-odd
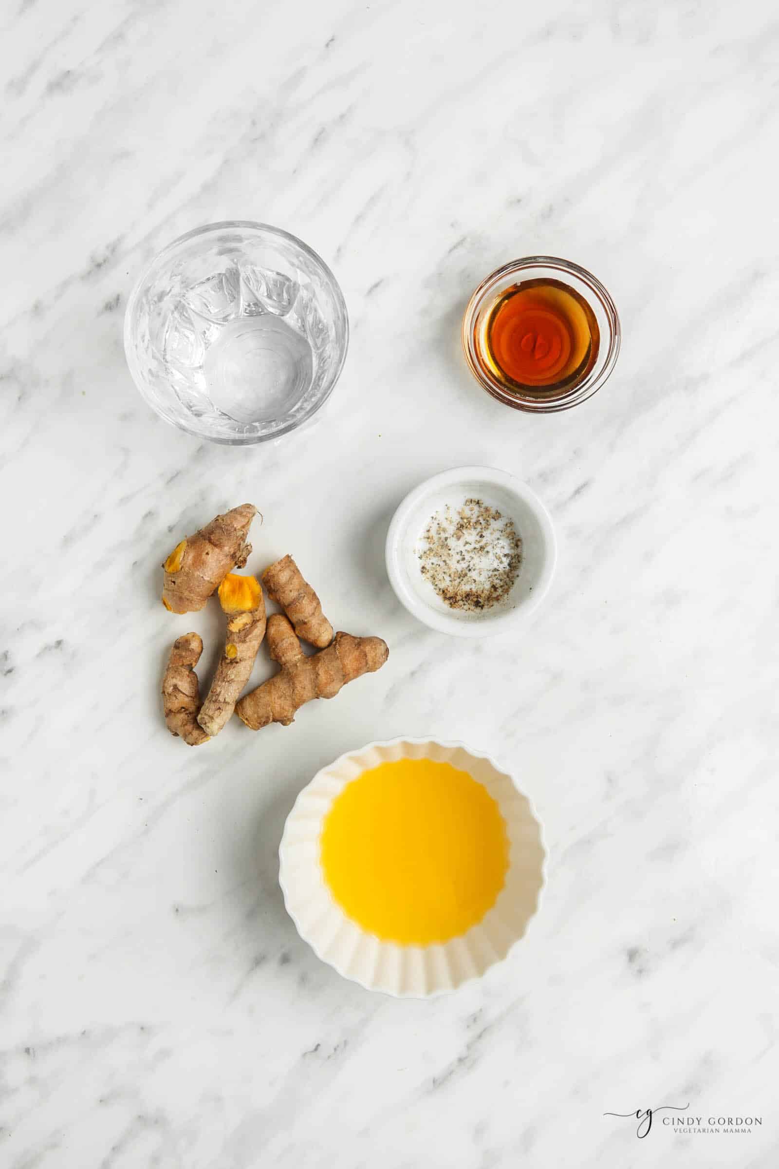
[(332, 645), (306, 657), (292, 624), (278, 613), (267, 618), (267, 649), (281, 669), (236, 706), (238, 718), (252, 731), (269, 722), (288, 726), (304, 703), (334, 698), (347, 682), (380, 670), (389, 657), (381, 637), (350, 634), (336, 634)]

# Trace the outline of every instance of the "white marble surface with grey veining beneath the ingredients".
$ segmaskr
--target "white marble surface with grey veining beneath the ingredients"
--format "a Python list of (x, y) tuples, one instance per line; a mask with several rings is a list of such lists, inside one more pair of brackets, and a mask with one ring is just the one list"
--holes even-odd
[[(773, 6), (9, 0), (0, 23), (2, 1165), (775, 1164)], [(179, 434), (124, 365), (142, 264), (234, 216), (308, 241), (352, 314), (328, 408), (272, 448)], [(607, 387), (542, 419), (458, 350), (471, 289), (536, 251), (591, 268), (625, 336)], [(399, 498), (480, 462), (561, 544), (491, 644), (415, 623), (382, 563)], [(292, 551), (390, 660), (189, 750), (157, 566), (244, 499), (250, 567)], [(216, 616), (194, 628), (213, 656)], [(395, 1002), (298, 939), (276, 850), (320, 765), (429, 733), (519, 770), (549, 886), (506, 964)], [(603, 1116), (688, 1102), (763, 1125)]]

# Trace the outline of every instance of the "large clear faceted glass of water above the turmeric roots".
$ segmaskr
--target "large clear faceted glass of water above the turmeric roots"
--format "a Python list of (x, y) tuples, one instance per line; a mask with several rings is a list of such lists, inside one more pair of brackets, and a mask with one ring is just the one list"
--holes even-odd
[(349, 340), (335, 277), (302, 241), (236, 220), (188, 231), (127, 302), (141, 396), (188, 434), (234, 445), (294, 430), (324, 406)]

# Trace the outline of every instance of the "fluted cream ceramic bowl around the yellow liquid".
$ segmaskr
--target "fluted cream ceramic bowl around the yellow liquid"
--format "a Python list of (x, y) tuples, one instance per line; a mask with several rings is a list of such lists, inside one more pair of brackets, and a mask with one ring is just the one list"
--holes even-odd
[[(440, 945), (381, 941), (347, 918), (325, 884), (320, 837), (333, 801), (362, 772), (398, 759), (432, 759), (467, 772), (496, 801), (506, 822), (509, 864), (498, 900), (465, 934)], [(537, 909), (544, 860), (541, 824), (530, 801), (488, 755), (461, 742), (392, 739), (341, 755), (302, 789), (284, 826), (279, 884), (298, 933), (324, 962), (367, 990), (426, 998), (481, 977), (506, 957)]]

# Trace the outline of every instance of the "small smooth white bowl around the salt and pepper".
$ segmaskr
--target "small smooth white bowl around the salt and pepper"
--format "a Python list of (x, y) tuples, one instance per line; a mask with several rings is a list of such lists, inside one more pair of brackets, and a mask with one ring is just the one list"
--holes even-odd
[[(447, 504), (457, 512), (467, 498), (482, 499), (514, 526), (522, 563), (508, 597), (491, 609), (451, 609), (420, 572), (419, 544), (431, 517)], [(551, 584), (557, 560), (549, 512), (520, 479), (492, 466), (457, 466), (425, 479), (399, 505), (387, 533), (387, 572), (398, 601), (425, 625), (458, 637), (501, 634), (536, 609)]]

